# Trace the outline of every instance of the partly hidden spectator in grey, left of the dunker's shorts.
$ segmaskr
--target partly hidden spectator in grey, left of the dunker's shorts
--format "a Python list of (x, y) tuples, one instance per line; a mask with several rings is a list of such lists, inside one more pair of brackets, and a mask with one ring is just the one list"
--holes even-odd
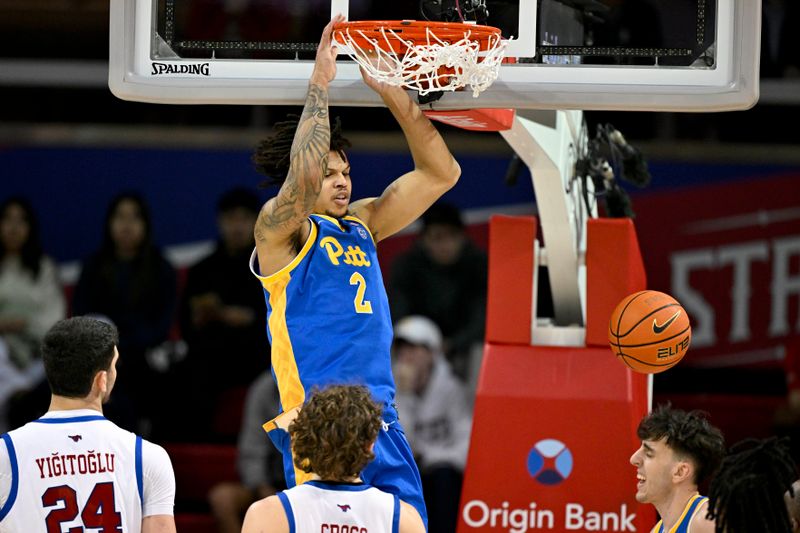
[(261, 428), (264, 420), (278, 414), (278, 402), (272, 374), (262, 372), (250, 386), (244, 406), (237, 449), (240, 481), (220, 483), (208, 495), (220, 533), (239, 533), (250, 504), (286, 488), (281, 454)]

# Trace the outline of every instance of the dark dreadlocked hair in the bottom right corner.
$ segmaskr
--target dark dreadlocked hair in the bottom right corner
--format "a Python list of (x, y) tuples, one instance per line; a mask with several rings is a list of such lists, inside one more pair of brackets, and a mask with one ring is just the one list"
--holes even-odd
[(789, 533), (783, 495), (797, 466), (787, 438), (747, 439), (734, 445), (709, 488), (709, 518), (717, 533)]

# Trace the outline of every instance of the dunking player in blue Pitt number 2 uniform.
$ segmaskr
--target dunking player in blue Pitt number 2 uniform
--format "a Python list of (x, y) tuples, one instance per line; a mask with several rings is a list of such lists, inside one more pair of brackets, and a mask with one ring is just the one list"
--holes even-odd
[[(425, 519), (419, 472), (392, 406), (392, 324), (375, 243), (417, 219), (458, 180), (461, 170), (444, 140), (399, 87), (362, 71), (399, 123), (414, 159), (379, 198), (350, 203), (349, 144), (328, 119), (328, 84), (336, 75), (331, 44), (335, 17), (322, 33), (299, 121), (277, 125), (253, 159), (280, 183), (256, 222), (251, 267), (267, 298), (272, 366), (284, 412), (303, 404), (313, 386), (369, 387), (386, 424), (367, 483), (397, 494)], [(257, 260), (257, 261), (256, 261)], [(306, 476), (293, 467), (280, 423), (268, 424), (284, 452), (288, 486)], [(276, 429), (277, 428), (277, 429)]]

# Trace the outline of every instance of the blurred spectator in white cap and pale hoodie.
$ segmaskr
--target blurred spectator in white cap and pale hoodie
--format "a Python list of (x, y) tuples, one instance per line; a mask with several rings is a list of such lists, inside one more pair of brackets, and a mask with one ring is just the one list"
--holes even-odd
[(397, 411), (422, 476), (430, 531), (455, 531), (472, 413), (464, 384), (442, 355), (442, 334), (423, 316), (394, 329)]

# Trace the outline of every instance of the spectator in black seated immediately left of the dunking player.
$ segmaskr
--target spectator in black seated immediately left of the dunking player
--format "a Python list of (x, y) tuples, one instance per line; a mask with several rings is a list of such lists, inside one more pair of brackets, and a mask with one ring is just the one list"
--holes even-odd
[[(187, 273), (180, 324), (189, 352), (176, 377), (190, 377), (178, 379), (185, 384), (178, 387), (183, 400), (189, 402), (181, 417), (196, 416), (183, 418), (190, 423), (184, 438), (208, 439), (220, 395), (246, 389), (269, 369), (264, 296), (258, 281), (248, 275), (261, 204), (249, 189), (224, 193), (217, 204), (217, 247)], [(170, 424), (174, 422), (173, 417)]]

